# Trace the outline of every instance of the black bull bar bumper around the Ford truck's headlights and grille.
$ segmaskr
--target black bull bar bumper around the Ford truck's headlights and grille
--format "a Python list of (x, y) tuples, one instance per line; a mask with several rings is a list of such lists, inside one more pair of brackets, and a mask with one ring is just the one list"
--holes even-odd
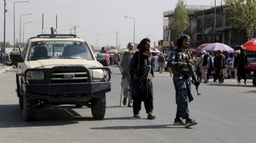
[[(79, 83), (53, 83), (53, 71), (61, 71), (66, 69), (79, 69), (87, 74), (86, 82)], [(90, 70), (104, 69), (108, 70), (108, 78), (104, 80), (95, 80)], [(44, 71), (45, 83), (31, 84), (27, 80), (28, 71)], [(32, 98), (48, 99), (49, 101), (81, 101), (89, 98), (97, 97), (111, 90), (111, 76), (108, 67), (86, 67), (86, 66), (56, 66), (52, 69), (27, 69), (24, 73), (25, 83), (22, 83), (23, 92)]]

